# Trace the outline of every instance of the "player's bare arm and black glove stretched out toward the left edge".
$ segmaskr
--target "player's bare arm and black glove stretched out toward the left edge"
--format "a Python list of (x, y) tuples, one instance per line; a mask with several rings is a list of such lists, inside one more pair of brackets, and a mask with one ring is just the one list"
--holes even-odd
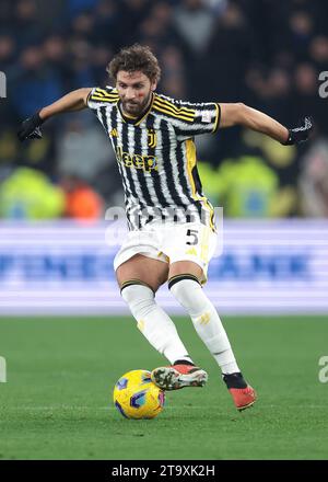
[(40, 139), (43, 137), (39, 126), (57, 114), (65, 112), (82, 111), (86, 107), (86, 99), (91, 92), (91, 88), (78, 89), (70, 92), (54, 104), (43, 107), (21, 124), (17, 131), (19, 139), (23, 142), (26, 139)]

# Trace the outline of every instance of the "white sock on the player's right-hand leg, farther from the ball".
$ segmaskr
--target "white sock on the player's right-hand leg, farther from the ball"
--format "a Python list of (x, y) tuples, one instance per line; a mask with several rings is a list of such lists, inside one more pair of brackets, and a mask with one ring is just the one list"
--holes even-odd
[(215, 358), (222, 374), (241, 371), (220, 317), (201, 286), (194, 279), (183, 278), (169, 289), (188, 311), (198, 335)]

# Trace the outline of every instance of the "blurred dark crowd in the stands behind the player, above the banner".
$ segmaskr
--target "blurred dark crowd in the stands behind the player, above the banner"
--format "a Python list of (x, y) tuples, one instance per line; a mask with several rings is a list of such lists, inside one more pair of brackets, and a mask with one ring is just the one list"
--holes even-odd
[(122, 205), (109, 141), (87, 111), (49, 120), (42, 140), (21, 145), (16, 130), (71, 90), (108, 84), (106, 65), (134, 42), (160, 59), (159, 92), (244, 102), (288, 127), (314, 117), (297, 148), (238, 127), (200, 137), (215, 206), (231, 217), (327, 217), (327, 19), (325, 0), (1, 0), (0, 217), (98, 218)]

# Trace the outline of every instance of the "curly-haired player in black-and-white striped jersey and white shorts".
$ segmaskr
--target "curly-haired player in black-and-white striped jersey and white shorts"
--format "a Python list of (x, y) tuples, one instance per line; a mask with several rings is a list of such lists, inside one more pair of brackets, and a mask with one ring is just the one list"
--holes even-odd
[(156, 93), (161, 70), (149, 47), (134, 44), (109, 62), (115, 88), (79, 89), (45, 106), (19, 130), (39, 138), (50, 117), (90, 108), (115, 150), (122, 180), (129, 232), (114, 261), (121, 296), (150, 344), (169, 366), (152, 371), (162, 389), (201, 387), (197, 367), (155, 294), (168, 288), (222, 371), (237, 410), (251, 406), (255, 390), (245, 381), (216, 309), (202, 289), (216, 242), (213, 207), (197, 171), (195, 136), (242, 125), (283, 145), (307, 139), (309, 118), (288, 129), (243, 103), (189, 103)]

